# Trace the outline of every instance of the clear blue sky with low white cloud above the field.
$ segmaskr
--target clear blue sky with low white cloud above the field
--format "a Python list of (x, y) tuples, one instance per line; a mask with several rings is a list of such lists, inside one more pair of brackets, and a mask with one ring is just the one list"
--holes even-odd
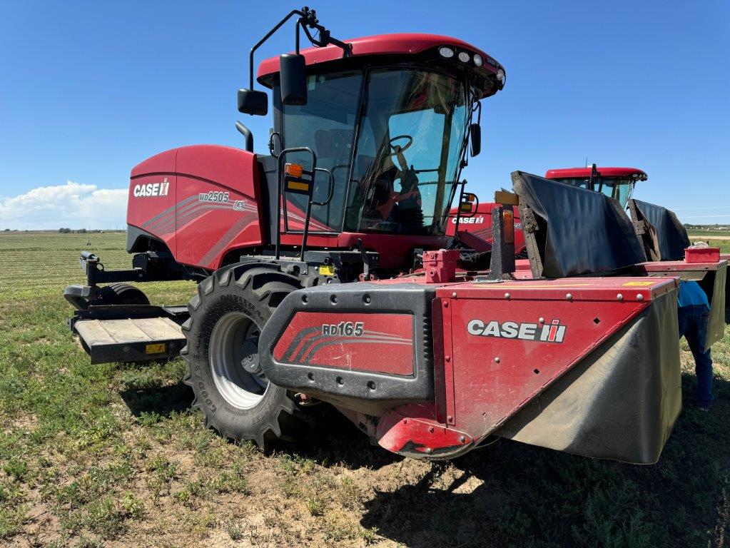
[[(0, 0), (0, 229), (123, 227), (128, 174), (184, 144), (263, 150), (243, 117), (247, 51), (292, 7), (249, 1)], [(458, 36), (507, 70), (483, 104), (483, 200), (510, 171), (599, 165), (649, 174), (637, 197), (685, 221), (730, 223), (730, 4), (318, 1), (341, 38)], [(257, 61), (291, 50), (283, 31)]]

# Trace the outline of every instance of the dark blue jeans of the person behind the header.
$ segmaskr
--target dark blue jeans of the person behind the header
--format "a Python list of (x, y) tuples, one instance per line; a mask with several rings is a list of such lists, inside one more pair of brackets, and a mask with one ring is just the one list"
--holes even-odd
[(710, 407), (712, 404), (712, 358), (710, 349), (704, 348), (707, 336), (707, 320), (710, 311), (704, 305), (680, 306), (677, 319), (680, 324), (680, 338), (687, 339), (689, 350), (694, 356), (694, 371), (697, 375), (697, 405)]

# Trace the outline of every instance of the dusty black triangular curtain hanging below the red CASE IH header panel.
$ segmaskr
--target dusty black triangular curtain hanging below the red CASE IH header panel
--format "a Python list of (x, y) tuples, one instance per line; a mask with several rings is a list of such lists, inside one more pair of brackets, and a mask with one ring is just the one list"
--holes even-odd
[(677, 290), (507, 421), (498, 436), (628, 463), (656, 463), (682, 407)]

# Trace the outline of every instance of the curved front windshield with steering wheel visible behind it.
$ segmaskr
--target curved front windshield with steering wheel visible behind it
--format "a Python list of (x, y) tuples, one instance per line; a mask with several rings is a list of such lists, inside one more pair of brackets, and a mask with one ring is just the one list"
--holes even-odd
[(456, 184), (464, 82), (420, 69), (369, 72), (345, 231), (439, 234)]

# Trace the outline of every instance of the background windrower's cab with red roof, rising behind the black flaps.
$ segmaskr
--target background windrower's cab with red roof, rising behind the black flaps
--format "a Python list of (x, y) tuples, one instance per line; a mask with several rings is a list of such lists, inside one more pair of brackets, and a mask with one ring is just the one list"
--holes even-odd
[(622, 209), (634, 192), (638, 181), (647, 180), (647, 174), (633, 167), (602, 167), (594, 163), (591, 167), (548, 169), (545, 179), (564, 182), (566, 185), (595, 190), (618, 200)]

